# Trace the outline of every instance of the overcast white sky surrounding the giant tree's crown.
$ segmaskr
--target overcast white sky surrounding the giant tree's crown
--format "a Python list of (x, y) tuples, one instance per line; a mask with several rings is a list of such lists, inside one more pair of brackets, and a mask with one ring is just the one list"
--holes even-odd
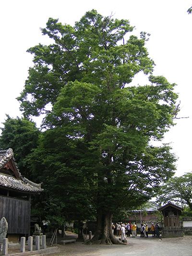
[[(23, 90), (32, 55), (26, 50), (38, 43), (47, 44), (41, 35), (49, 17), (73, 25), (86, 11), (96, 9), (103, 16), (129, 19), (135, 34), (151, 34), (147, 42), (155, 61), (155, 75), (176, 83), (181, 102), (177, 125), (166, 134), (178, 156), (176, 175), (191, 171), (192, 163), (192, 0), (1, 0), (0, 1), (0, 126), (5, 114), (21, 116), (15, 99)], [(140, 78), (139, 83), (145, 84)]]

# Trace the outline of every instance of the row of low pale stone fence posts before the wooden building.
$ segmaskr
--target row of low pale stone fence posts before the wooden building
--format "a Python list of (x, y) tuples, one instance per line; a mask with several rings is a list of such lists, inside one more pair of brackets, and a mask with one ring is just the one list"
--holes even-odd
[[(46, 249), (46, 235), (42, 235), (42, 245), (41, 249)], [(8, 238), (3, 239), (3, 244), (2, 244), (2, 255), (6, 256), (8, 255)], [(38, 251), (40, 250), (40, 236), (37, 235), (35, 239), (35, 250), (33, 249), (33, 236), (28, 237), (28, 252), (31, 251)], [(21, 237), (21, 244), (20, 244), (20, 252), (24, 253), (25, 252), (25, 237)]]

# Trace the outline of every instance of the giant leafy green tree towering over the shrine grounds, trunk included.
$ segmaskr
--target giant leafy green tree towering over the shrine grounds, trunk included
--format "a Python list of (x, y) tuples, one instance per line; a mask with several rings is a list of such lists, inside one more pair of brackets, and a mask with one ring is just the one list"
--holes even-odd
[[(128, 20), (103, 17), (95, 10), (74, 26), (50, 18), (42, 32), (53, 43), (29, 49), (35, 65), (19, 98), (25, 116), (47, 113), (44, 143), (31, 158), (34, 171), (45, 164), (39, 177), (48, 170), (48, 190), (55, 186), (51, 175), (59, 181), (54, 184), (60, 198), (66, 172), (74, 180), (81, 177), (82, 199), (88, 196), (81, 204), (96, 211), (91, 243), (121, 244), (112, 234), (113, 214), (156, 195), (175, 169), (170, 147), (151, 143), (173, 125), (178, 111), (175, 84), (152, 74), (146, 33), (128, 37), (132, 30)], [(130, 84), (139, 72), (147, 75), (148, 85)], [(52, 135), (47, 141), (48, 134)], [(74, 181), (74, 194), (80, 187), (75, 188)], [(67, 195), (63, 204), (70, 204), (72, 193)]]

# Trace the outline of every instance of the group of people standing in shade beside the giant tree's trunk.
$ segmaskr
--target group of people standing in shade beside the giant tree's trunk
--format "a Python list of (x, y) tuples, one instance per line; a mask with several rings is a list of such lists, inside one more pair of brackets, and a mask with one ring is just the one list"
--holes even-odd
[[(117, 236), (121, 236), (121, 240), (125, 240), (126, 239), (126, 235), (127, 236), (131, 236), (135, 237), (137, 235), (137, 231), (138, 231), (138, 227), (136, 225), (135, 222), (133, 222), (133, 224), (131, 224), (131, 222), (129, 221), (128, 223), (122, 223), (122, 222), (118, 222), (116, 223), (116, 226), (112, 223), (111, 225), (112, 227), (112, 232), (114, 233), (114, 230), (116, 229), (116, 235)], [(154, 225), (154, 223), (151, 223), (151, 232), (152, 232), (152, 236), (153, 237), (159, 237), (159, 224), (158, 222), (156, 223), (156, 225)], [(149, 232), (149, 228), (147, 224), (141, 224), (141, 237), (148, 237), (148, 232)]]

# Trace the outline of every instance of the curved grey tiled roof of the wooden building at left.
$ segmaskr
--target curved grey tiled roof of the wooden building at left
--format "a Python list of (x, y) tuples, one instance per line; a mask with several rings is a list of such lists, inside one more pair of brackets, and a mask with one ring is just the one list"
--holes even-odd
[(43, 191), (43, 189), (41, 189), (41, 184), (33, 183), (21, 175), (14, 160), (12, 148), (9, 148), (8, 150), (0, 150), (0, 169), (3, 168), (11, 159), (14, 162), (17, 176), (19, 178), (0, 173), (0, 186), (28, 193), (38, 193)]

